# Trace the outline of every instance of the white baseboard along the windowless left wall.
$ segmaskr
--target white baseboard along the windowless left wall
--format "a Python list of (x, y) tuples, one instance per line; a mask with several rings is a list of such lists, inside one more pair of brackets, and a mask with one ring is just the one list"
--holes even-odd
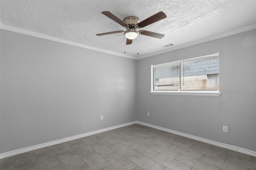
[(36, 149), (41, 149), (41, 148), (44, 148), (44, 147), (49, 147), (49, 146), (56, 145), (56, 144), (59, 144), (59, 143), (72, 141), (72, 140), (79, 139), (79, 138), (82, 138), (82, 137), (87, 137), (87, 136), (94, 135), (94, 134), (97, 134), (97, 133), (110, 131), (110, 130), (117, 129), (117, 128), (120, 128), (120, 127), (133, 125), (133, 124), (136, 124), (136, 123), (137, 123), (137, 121), (133, 121), (133, 122), (130, 122), (130, 123), (124, 123), (122, 125), (112, 126), (112, 127), (108, 127), (108, 128), (105, 128), (105, 129), (100, 129), (100, 130), (97, 130), (97, 131), (84, 133), (84, 134), (81, 134), (81, 135), (67, 137), (67, 138), (64, 138), (64, 139), (59, 139), (59, 140), (56, 140), (56, 141), (42, 143), (42, 144), (39, 144), (39, 145), (34, 145), (34, 146), (31, 146), (31, 147), (12, 150), (10, 152), (5, 152), (5, 153), (0, 154), (0, 159), (6, 158), (6, 157), (9, 157), (9, 156), (14, 156), (16, 154), (21, 154), (21, 153), (24, 153), (24, 152), (29, 152), (29, 151), (36, 150)]

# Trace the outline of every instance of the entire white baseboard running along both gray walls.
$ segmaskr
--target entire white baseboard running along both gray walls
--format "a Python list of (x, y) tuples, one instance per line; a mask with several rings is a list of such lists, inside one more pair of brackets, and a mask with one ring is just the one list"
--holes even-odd
[(209, 140), (209, 139), (204, 139), (204, 138), (201, 138), (201, 137), (196, 137), (196, 136), (193, 136), (193, 135), (188, 135), (186, 133), (181, 133), (181, 132), (178, 132), (178, 131), (166, 129), (164, 127), (159, 127), (159, 126), (151, 125), (151, 124), (148, 124), (148, 123), (143, 123), (143, 122), (140, 122), (140, 121), (133, 121), (133, 122), (130, 122), (130, 123), (124, 123), (122, 125), (112, 126), (112, 127), (108, 127), (108, 128), (105, 128), (105, 129), (100, 129), (100, 130), (97, 130), (97, 131), (92, 131), (92, 132), (84, 133), (84, 134), (81, 134), (81, 135), (67, 137), (67, 138), (64, 138), (64, 139), (59, 139), (59, 140), (48, 142), (48, 143), (43, 143), (43, 144), (31, 146), (31, 147), (12, 150), (10, 152), (5, 152), (5, 153), (0, 154), (0, 159), (6, 158), (6, 157), (9, 157), (9, 156), (14, 156), (16, 154), (21, 154), (21, 153), (24, 153), (24, 152), (29, 152), (29, 151), (36, 150), (36, 149), (41, 149), (41, 148), (44, 148), (44, 147), (49, 147), (49, 146), (56, 145), (56, 144), (59, 144), (59, 143), (72, 141), (72, 140), (79, 139), (79, 138), (82, 138), (82, 137), (87, 137), (87, 136), (94, 135), (94, 134), (97, 134), (97, 133), (110, 131), (110, 130), (117, 129), (117, 128), (120, 128), (120, 127), (133, 125), (133, 124), (136, 124), (136, 123), (138, 123), (140, 125), (152, 127), (154, 129), (158, 129), (158, 130), (161, 130), (161, 131), (166, 131), (166, 132), (169, 132), (169, 133), (173, 133), (173, 134), (176, 134), (176, 135), (180, 135), (180, 136), (183, 136), (183, 137), (187, 137), (187, 138), (194, 139), (194, 140), (197, 140), (197, 141), (201, 141), (201, 142), (204, 142), (204, 143), (209, 143), (211, 145), (215, 145), (215, 146), (218, 146), (218, 147), (234, 150), (236, 152), (240, 152), (240, 153), (244, 153), (244, 154), (248, 154), (248, 155), (256, 157), (256, 152), (252, 151), (252, 150), (243, 149), (243, 148), (240, 148), (240, 147), (236, 147), (236, 146), (228, 145), (228, 144), (225, 144), (225, 143), (212, 141), (212, 140)]

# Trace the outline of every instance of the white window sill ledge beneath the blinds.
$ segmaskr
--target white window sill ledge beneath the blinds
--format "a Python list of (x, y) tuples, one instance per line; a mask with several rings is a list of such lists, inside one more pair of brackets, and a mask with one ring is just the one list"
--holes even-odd
[(183, 95), (183, 96), (220, 96), (220, 92), (150, 92), (150, 94)]

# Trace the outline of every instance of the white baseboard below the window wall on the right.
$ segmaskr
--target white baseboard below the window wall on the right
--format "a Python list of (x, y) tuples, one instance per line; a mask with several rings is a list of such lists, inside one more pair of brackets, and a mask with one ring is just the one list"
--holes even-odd
[(183, 137), (187, 137), (187, 138), (190, 138), (190, 139), (194, 139), (194, 140), (197, 140), (197, 141), (201, 141), (201, 142), (204, 142), (204, 143), (208, 143), (208, 144), (211, 144), (211, 145), (215, 145), (215, 146), (218, 146), (218, 147), (234, 150), (236, 152), (240, 152), (240, 153), (244, 153), (244, 154), (248, 154), (250, 156), (255, 156), (256, 157), (256, 152), (252, 151), (252, 150), (248, 150), (248, 149), (228, 145), (228, 144), (225, 144), (225, 143), (212, 141), (212, 140), (209, 140), (209, 139), (204, 139), (204, 138), (201, 138), (201, 137), (196, 137), (196, 136), (193, 136), (193, 135), (188, 135), (186, 133), (181, 133), (181, 132), (178, 132), (178, 131), (166, 129), (164, 127), (150, 125), (148, 123), (143, 123), (143, 122), (140, 122), (140, 121), (137, 121), (137, 123), (140, 124), (140, 125), (152, 127), (154, 129), (158, 129), (158, 130), (161, 130), (161, 131), (166, 131), (166, 132), (169, 132), (169, 133), (173, 133), (173, 134), (176, 134), (176, 135), (180, 135), (180, 136), (183, 136)]

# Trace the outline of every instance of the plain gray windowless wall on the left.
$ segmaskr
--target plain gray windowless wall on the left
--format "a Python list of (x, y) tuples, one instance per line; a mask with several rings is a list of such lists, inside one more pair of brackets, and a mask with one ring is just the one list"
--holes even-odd
[(136, 120), (135, 60), (0, 33), (1, 153)]

